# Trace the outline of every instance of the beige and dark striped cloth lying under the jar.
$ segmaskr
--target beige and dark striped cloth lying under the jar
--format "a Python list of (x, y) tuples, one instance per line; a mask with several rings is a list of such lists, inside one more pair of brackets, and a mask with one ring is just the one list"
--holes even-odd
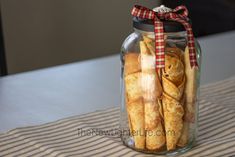
[[(182, 156), (235, 155), (235, 77), (203, 86), (200, 98), (197, 144)], [(0, 134), (0, 156), (151, 156), (125, 147), (118, 123), (112, 108), (13, 129)]]

